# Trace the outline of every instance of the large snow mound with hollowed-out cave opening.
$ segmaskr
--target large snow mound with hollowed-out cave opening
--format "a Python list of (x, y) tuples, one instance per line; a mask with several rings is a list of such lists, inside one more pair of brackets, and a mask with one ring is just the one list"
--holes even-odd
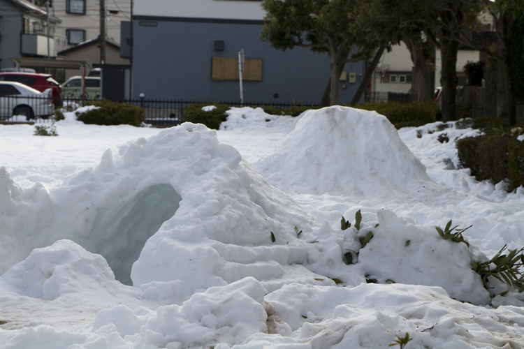
[[(333, 228), (319, 230), (321, 225), (203, 125), (186, 123), (128, 142), (116, 153), (108, 149), (96, 168), (58, 188), (22, 189), (5, 168), (0, 171), (6, 212), (0, 216), (6, 226), (0, 239), (8, 246), (0, 262), (4, 271), (34, 248), (71, 239), (101, 254), (123, 283), (180, 280), (180, 290), (191, 295), (246, 276), (280, 279), (293, 263), (340, 254), (337, 244), (328, 254), (307, 244)], [(170, 299), (165, 292), (158, 296)]]

